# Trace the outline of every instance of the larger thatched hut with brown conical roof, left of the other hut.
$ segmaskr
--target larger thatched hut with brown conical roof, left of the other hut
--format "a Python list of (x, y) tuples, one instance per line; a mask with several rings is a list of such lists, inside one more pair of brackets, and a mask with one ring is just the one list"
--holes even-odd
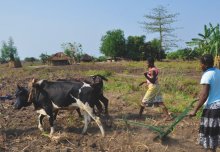
[(55, 53), (53, 55), (51, 55), (51, 57), (48, 58), (48, 63), (50, 65), (70, 65), (74, 63), (74, 59), (68, 57), (66, 54), (64, 54), (63, 52), (58, 52)]

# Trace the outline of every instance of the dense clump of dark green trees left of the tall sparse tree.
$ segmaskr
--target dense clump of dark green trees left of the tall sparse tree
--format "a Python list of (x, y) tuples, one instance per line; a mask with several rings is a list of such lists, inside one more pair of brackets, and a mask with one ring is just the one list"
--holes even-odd
[(107, 31), (101, 39), (100, 51), (105, 56), (116, 59), (125, 58), (132, 61), (146, 60), (152, 56), (156, 59), (165, 58), (165, 52), (160, 51), (160, 40), (153, 39), (145, 42), (145, 36), (124, 37), (124, 32), (120, 29)]

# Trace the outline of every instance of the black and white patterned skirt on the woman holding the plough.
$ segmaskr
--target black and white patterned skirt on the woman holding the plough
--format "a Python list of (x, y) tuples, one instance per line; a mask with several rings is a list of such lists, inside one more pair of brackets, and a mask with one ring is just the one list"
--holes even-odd
[(203, 109), (199, 144), (206, 149), (215, 149), (220, 144), (220, 102), (215, 102)]

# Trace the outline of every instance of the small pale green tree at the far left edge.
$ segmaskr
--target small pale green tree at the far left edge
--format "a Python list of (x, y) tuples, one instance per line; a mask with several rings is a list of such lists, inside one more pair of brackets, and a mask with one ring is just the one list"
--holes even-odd
[(15, 61), (19, 59), (17, 48), (14, 46), (12, 37), (9, 38), (8, 42), (2, 42), (1, 58), (5, 61)]

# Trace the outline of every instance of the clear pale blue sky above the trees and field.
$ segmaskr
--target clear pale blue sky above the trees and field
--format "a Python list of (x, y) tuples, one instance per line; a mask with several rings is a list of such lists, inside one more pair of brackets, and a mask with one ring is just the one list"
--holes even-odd
[(203, 32), (204, 24), (220, 23), (219, 0), (0, 0), (0, 42), (12, 37), (21, 59), (62, 51), (61, 44), (77, 42), (84, 53), (100, 56), (101, 37), (121, 29), (125, 38), (148, 34), (139, 22), (159, 5), (179, 13), (174, 27), (179, 48)]

